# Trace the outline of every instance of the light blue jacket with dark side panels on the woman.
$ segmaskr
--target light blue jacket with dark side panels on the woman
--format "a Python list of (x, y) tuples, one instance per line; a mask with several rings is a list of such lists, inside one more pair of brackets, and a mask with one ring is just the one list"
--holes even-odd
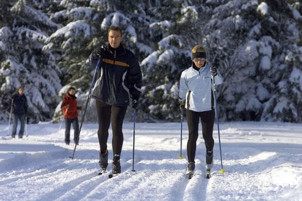
[[(223, 81), (218, 69), (214, 78), (216, 85)], [(212, 110), (211, 90), (212, 80), (209, 64), (206, 63), (199, 71), (191, 66), (181, 73), (179, 100), (186, 103), (185, 108), (187, 110), (195, 112)]]

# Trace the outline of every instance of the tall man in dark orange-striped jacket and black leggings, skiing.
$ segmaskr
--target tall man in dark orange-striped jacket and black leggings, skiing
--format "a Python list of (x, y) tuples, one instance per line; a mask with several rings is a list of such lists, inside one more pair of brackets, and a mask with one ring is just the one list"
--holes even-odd
[(134, 54), (122, 44), (122, 30), (112, 26), (108, 30), (108, 45), (94, 50), (89, 56), (93, 67), (100, 59), (97, 81), (92, 91), (96, 99), (99, 120), (99, 164), (103, 170), (108, 166), (108, 130), (112, 126), (112, 173), (120, 173), (120, 155), (123, 145), (122, 125), (127, 106), (136, 109), (141, 94), (142, 74)]

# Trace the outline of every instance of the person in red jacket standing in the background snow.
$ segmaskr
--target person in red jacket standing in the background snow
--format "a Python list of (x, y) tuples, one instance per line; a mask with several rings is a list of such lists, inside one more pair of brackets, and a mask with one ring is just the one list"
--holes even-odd
[(75, 97), (75, 88), (69, 87), (66, 95), (62, 99), (61, 109), (65, 121), (65, 143), (70, 143), (70, 126), (74, 130), (73, 141), (79, 145), (79, 120), (78, 110), (82, 110), (82, 107), (77, 106), (77, 97)]

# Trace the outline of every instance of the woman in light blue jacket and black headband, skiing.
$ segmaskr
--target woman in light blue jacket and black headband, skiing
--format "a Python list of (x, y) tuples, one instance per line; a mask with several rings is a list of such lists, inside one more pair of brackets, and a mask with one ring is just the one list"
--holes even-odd
[(221, 84), (223, 78), (215, 66), (206, 60), (206, 49), (196, 45), (192, 49), (192, 66), (184, 70), (180, 77), (180, 110), (186, 109), (189, 128), (187, 143), (188, 168), (186, 174), (193, 174), (195, 169), (196, 141), (198, 138), (199, 119), (202, 125), (202, 137), (206, 148), (206, 169), (213, 165), (213, 126), (215, 119), (212, 79)]

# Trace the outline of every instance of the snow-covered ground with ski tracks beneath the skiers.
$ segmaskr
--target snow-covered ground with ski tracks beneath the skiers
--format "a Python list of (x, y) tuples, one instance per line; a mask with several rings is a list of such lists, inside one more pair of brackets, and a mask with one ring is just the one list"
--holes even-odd
[[(135, 172), (133, 123), (124, 123), (122, 173), (111, 179), (108, 173), (98, 176), (98, 126), (83, 125), (73, 160), (74, 144), (64, 144), (59, 126), (28, 125), (28, 137), (12, 139), (7, 125), (0, 125), (0, 200), (302, 200), (302, 124), (221, 123), (224, 174), (215, 125), (211, 178), (205, 178), (200, 133), (199, 174), (191, 180), (187, 160), (178, 159), (180, 123), (136, 123)], [(186, 122), (183, 126), (186, 154)], [(108, 142), (112, 158), (111, 130)]]

